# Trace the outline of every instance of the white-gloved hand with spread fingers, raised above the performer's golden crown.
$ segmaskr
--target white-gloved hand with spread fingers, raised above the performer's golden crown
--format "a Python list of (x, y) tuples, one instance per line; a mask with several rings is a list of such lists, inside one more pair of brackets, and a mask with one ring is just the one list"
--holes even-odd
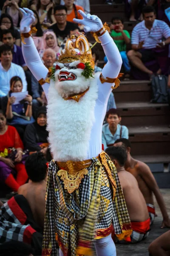
[(102, 28), (102, 20), (100, 20), (96, 15), (91, 15), (90, 13), (86, 15), (82, 10), (79, 10), (78, 12), (83, 17), (83, 20), (75, 18), (73, 20), (78, 24), (84, 25), (85, 32), (97, 32)]

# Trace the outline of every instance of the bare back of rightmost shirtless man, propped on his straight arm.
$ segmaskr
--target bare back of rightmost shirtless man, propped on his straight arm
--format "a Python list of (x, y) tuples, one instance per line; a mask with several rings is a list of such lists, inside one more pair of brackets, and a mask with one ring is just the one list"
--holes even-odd
[[(150, 187), (147, 185), (146, 181), (144, 180), (144, 173), (150, 173), (152, 175), (149, 167), (140, 161), (134, 160), (135, 164), (132, 167), (128, 167), (126, 169), (127, 172), (130, 172), (137, 180), (139, 189), (142, 192), (142, 195), (144, 196), (144, 199), (146, 201), (146, 204), (154, 204), (153, 203), (153, 193)], [(153, 175), (152, 175), (153, 176)], [(151, 182), (151, 180), (150, 180)]]

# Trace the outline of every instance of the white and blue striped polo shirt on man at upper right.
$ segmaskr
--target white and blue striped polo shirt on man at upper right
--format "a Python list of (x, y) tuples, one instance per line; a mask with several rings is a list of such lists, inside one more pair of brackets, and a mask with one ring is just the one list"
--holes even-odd
[(154, 20), (152, 29), (147, 29), (145, 21), (138, 23), (133, 31), (131, 37), (131, 44), (139, 44), (144, 41), (143, 47), (145, 49), (153, 49), (162, 38), (170, 37), (170, 27), (162, 20)]

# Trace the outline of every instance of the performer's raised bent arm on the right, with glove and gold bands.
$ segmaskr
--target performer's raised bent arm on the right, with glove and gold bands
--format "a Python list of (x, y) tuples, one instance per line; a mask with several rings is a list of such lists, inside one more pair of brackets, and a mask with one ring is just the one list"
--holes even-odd
[[(83, 20), (74, 19), (75, 22), (83, 24), (85, 32), (94, 32), (97, 41), (100, 41), (105, 52), (108, 62), (102, 70), (102, 75), (100, 76), (99, 82), (99, 97), (104, 101), (108, 94), (111, 92), (111, 86), (114, 83), (114, 79), (119, 75), (119, 71), (122, 66), (122, 58), (119, 53), (116, 44), (109, 35), (105, 26), (103, 26), (102, 21), (96, 15), (85, 14), (81, 10), (78, 11)], [(102, 95), (104, 97), (102, 97)]]

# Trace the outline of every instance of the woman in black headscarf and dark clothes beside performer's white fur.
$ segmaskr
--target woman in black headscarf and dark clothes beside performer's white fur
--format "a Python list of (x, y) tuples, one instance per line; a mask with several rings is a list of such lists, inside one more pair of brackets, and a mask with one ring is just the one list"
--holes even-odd
[(48, 148), (48, 131), (46, 107), (40, 107), (37, 111), (36, 122), (27, 125), (24, 134), (26, 148), (31, 152), (41, 151), (46, 154)]

